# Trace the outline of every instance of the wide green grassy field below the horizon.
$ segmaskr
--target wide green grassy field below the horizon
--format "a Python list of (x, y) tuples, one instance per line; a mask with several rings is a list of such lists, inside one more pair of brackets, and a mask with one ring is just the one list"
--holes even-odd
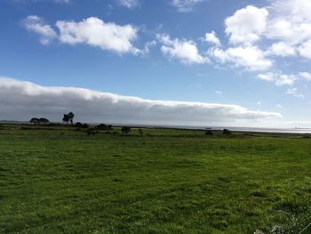
[(307, 136), (115, 132), (0, 126), (0, 233), (298, 233), (311, 222)]

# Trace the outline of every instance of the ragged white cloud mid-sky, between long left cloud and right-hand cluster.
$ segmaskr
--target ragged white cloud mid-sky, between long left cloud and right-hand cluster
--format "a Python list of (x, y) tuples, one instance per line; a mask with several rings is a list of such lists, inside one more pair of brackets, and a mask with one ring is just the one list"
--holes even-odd
[(185, 64), (204, 64), (210, 62), (207, 57), (203, 57), (199, 53), (194, 41), (179, 40), (178, 38), (171, 39), (169, 35), (165, 34), (158, 34), (156, 37), (163, 44), (161, 46), (163, 54), (171, 58), (177, 59)]

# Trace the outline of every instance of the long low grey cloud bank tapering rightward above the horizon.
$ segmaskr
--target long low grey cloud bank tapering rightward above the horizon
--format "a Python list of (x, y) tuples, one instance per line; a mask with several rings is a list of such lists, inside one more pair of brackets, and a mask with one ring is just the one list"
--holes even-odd
[(76, 119), (92, 122), (192, 125), (254, 121), (281, 117), (237, 105), (187, 101), (152, 101), (100, 93), (76, 87), (46, 87), (0, 77), (0, 119), (49, 117), (59, 121), (73, 111)]

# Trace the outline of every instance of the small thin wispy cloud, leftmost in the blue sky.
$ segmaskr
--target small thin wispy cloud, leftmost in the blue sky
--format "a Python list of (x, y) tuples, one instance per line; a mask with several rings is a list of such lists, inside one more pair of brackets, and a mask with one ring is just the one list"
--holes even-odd
[(29, 15), (25, 20), (22, 20), (22, 24), (28, 31), (38, 34), (42, 44), (49, 44), (52, 39), (57, 37), (51, 26), (46, 24), (44, 19), (39, 16)]

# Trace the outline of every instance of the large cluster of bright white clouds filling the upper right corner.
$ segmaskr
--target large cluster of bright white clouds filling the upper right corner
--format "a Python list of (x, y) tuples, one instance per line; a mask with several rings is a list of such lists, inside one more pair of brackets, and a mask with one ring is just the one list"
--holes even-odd
[[(273, 0), (263, 8), (249, 5), (239, 9), (225, 20), (230, 45), (210, 48), (210, 58), (249, 71), (267, 70), (258, 77), (279, 86), (308, 79), (307, 73), (286, 75), (275, 69), (279, 69), (279, 57), (311, 59), (310, 12), (311, 2), (301, 0)], [(205, 40), (218, 46), (220, 43), (213, 31)], [(301, 96), (295, 89), (289, 94)]]

